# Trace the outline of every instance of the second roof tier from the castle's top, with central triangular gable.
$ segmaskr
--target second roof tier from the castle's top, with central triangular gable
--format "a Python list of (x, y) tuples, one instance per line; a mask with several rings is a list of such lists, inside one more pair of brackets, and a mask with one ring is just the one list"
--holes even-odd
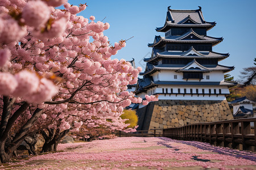
[(190, 29), (188, 32), (184, 33), (181, 36), (171, 35), (166, 37), (155, 36), (154, 43), (148, 44), (149, 47), (156, 46), (162, 43), (170, 42), (188, 42), (188, 43), (212, 43), (212, 45), (217, 45), (223, 40), (222, 37), (210, 37), (210, 36), (200, 36), (193, 29)]

